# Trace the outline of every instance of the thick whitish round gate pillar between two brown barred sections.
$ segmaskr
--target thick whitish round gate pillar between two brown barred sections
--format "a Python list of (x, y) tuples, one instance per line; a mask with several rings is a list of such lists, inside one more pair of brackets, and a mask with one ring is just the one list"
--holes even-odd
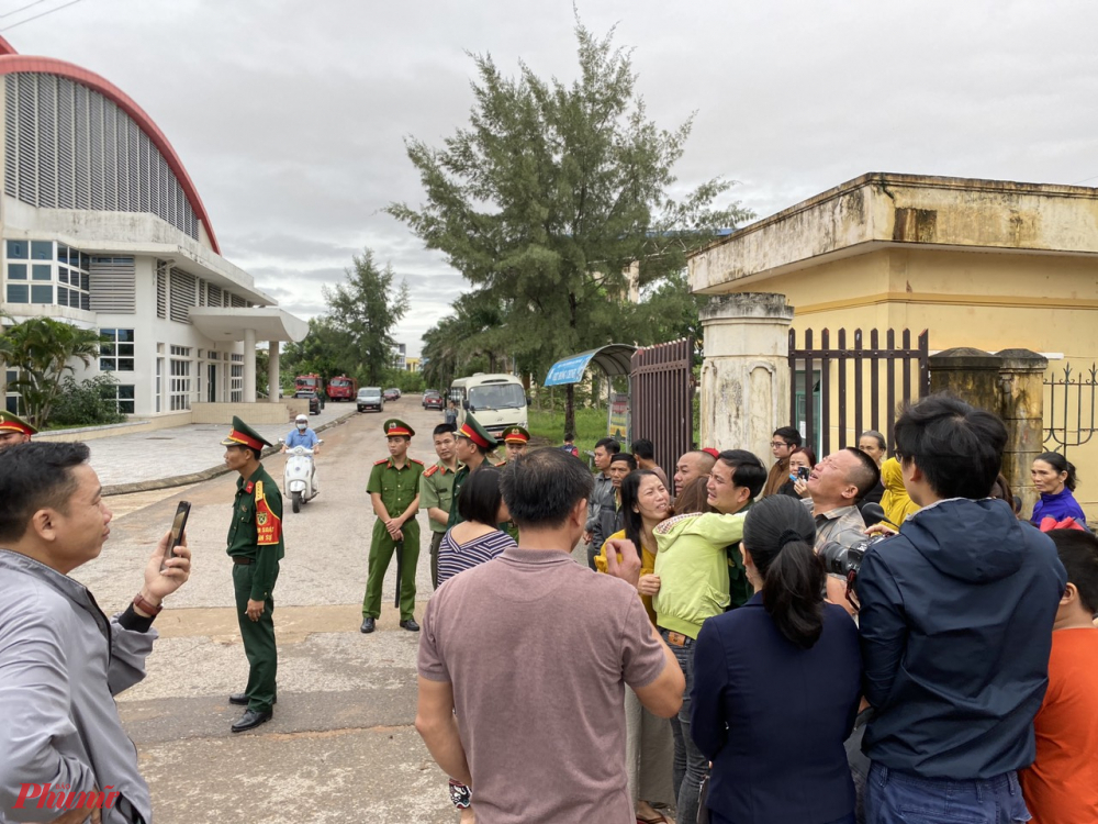
[(769, 463), (771, 433), (789, 424), (793, 307), (784, 294), (741, 292), (712, 298), (699, 314), (699, 446), (750, 449)]

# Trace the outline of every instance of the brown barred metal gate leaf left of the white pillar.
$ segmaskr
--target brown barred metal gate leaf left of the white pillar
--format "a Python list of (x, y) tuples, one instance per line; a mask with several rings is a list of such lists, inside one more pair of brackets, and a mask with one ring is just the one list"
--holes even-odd
[(679, 456), (693, 448), (694, 342), (658, 344), (632, 354), (629, 398), (632, 439), (648, 438), (656, 463), (670, 477)]

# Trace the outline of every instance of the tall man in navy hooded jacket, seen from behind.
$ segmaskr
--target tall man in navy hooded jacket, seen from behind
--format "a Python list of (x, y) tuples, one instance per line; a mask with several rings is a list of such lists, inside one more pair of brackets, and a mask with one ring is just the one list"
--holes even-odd
[(922, 509), (858, 576), (872, 760), (870, 822), (1027, 821), (1052, 624), (1067, 575), (1052, 541), (989, 499), (1007, 431), (931, 396), (896, 422), (904, 486)]

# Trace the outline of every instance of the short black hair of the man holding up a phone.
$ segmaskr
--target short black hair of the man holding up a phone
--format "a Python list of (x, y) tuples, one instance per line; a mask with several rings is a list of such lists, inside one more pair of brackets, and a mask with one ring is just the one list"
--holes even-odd
[(72, 469), (89, 455), (81, 443), (31, 442), (0, 452), (0, 542), (22, 538), (38, 510), (67, 512), (77, 488)]

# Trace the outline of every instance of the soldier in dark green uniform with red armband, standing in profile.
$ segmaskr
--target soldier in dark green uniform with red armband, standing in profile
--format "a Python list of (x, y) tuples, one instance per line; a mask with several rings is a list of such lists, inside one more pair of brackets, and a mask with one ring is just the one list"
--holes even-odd
[(233, 559), (236, 617), (250, 669), (247, 689), (229, 695), (228, 702), (248, 708), (232, 726), (234, 733), (243, 733), (270, 721), (277, 700), (273, 593), (278, 565), (285, 555), (282, 494), (259, 463), (264, 447), (271, 444), (258, 432), (234, 417), (233, 431), (221, 443), (227, 447), (225, 465), (240, 476), (228, 525), (228, 555)]

